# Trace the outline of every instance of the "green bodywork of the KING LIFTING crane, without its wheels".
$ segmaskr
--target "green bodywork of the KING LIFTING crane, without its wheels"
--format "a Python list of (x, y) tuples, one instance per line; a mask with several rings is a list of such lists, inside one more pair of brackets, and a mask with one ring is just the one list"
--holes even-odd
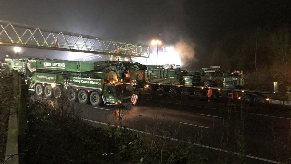
[[(146, 84), (144, 75), (147, 67), (140, 63), (117, 61), (66, 61), (58, 59), (11, 59), (11, 69), (22, 62), (22, 69), (30, 79), (30, 88), (37, 83), (55, 84), (64, 88), (98, 91), (106, 104), (130, 102), (133, 92)], [(13, 67), (12, 67), (13, 65)], [(124, 88), (116, 88), (120, 82)], [(116, 84), (116, 83), (115, 83)], [(125, 87), (126, 86), (126, 87)], [(37, 91), (36, 91), (37, 92)], [(120, 95), (120, 96), (119, 96)], [(122, 96), (122, 98), (121, 98)], [(81, 97), (82, 98), (82, 97)], [(96, 96), (93, 101), (97, 102)]]

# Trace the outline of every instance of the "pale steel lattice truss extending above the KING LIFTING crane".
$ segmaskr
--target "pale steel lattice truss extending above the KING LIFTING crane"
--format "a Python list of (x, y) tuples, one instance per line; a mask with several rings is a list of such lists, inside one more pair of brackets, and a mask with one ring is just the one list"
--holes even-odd
[(149, 57), (149, 46), (95, 36), (47, 30), (0, 20), (0, 45), (85, 52), (125, 57)]

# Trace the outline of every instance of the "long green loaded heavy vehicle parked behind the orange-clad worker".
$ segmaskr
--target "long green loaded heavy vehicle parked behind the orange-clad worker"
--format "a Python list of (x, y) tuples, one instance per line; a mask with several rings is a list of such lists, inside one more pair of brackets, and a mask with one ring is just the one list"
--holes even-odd
[[(143, 89), (172, 94), (206, 96), (208, 87), (212, 89), (213, 98), (231, 98), (247, 102), (267, 102), (276, 91), (253, 91), (244, 89), (247, 81), (240, 73), (222, 73), (217, 66), (203, 68), (199, 72), (188, 72), (182, 69), (147, 66), (146, 85)], [(162, 94), (160, 94), (162, 95)]]

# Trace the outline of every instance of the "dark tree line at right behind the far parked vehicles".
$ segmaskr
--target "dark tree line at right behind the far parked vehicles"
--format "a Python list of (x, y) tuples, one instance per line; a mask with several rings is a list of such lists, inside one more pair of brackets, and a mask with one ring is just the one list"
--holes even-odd
[[(213, 43), (204, 61), (197, 65), (220, 65), (223, 70), (243, 70), (250, 78), (255, 75), (260, 81), (277, 81), (281, 91), (291, 85), (291, 28), (258, 28), (236, 31)], [(203, 67), (202, 66), (202, 67)]]

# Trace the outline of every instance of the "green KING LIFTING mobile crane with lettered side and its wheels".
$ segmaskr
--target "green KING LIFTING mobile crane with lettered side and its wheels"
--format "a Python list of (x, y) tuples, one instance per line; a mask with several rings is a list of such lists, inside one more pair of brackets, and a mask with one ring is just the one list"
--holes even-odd
[[(60, 98), (98, 106), (129, 102), (132, 94), (145, 84), (145, 65), (130, 62), (83, 62), (58, 59), (8, 59), (7, 65), (18, 70), (30, 82), (38, 96)], [(122, 91), (122, 96), (119, 94)], [(120, 99), (122, 97), (122, 99)]]

